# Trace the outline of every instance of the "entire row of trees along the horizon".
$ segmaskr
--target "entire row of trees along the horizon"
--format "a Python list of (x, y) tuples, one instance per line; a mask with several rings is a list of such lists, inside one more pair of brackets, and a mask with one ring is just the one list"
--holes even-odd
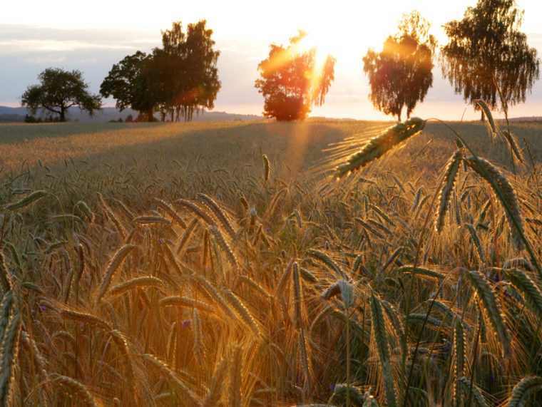
[[(472, 103), (484, 99), (491, 108), (508, 107), (526, 100), (539, 78), (540, 61), (519, 31), (523, 11), (514, 0), (479, 0), (466, 9), (461, 21), (444, 25), (448, 43), (437, 47), (431, 25), (418, 11), (404, 14), (398, 31), (388, 36), (382, 51), (369, 48), (362, 58), (369, 80), (369, 99), (375, 108), (401, 120), (409, 118), (433, 84), (436, 51), (444, 78), (456, 93)], [(192, 120), (203, 108), (212, 109), (220, 91), (218, 58), (213, 30), (206, 21), (183, 26), (174, 22), (162, 31), (162, 47), (151, 53), (137, 51), (116, 63), (92, 95), (80, 71), (47, 68), (39, 74), (41, 85), (29, 86), (23, 96), (33, 114), (39, 108), (66, 120), (73, 105), (91, 115), (101, 107), (101, 97), (113, 96), (120, 110), (132, 108), (138, 120)], [(307, 33), (299, 31), (288, 46), (270, 45), (269, 56), (259, 63), (255, 88), (264, 97), (267, 118), (303, 120), (312, 107), (322, 105), (334, 81), (336, 58), (317, 63), (317, 48), (301, 46)], [(476, 108), (476, 103), (474, 103)], [(483, 116), (482, 116), (483, 117)]]

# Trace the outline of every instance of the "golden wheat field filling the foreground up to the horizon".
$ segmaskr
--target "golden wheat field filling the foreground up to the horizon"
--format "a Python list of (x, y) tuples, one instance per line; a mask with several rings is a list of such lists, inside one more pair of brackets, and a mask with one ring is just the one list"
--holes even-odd
[(538, 405), (542, 123), (488, 123), (0, 125), (0, 405)]

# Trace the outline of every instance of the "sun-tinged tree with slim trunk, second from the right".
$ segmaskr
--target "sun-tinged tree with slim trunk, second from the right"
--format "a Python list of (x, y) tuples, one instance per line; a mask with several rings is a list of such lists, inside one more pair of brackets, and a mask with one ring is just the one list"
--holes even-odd
[(397, 116), (406, 107), (410, 118), (418, 101), (433, 85), (434, 36), (429, 34), (430, 24), (418, 11), (404, 14), (399, 21), (399, 32), (388, 36), (382, 52), (369, 48), (363, 57), (363, 70), (369, 78), (369, 99), (375, 108), (387, 115)]

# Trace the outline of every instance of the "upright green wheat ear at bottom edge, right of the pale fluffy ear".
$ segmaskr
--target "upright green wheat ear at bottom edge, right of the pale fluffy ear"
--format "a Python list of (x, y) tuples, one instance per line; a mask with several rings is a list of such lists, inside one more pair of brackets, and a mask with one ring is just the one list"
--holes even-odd
[(384, 393), (389, 407), (397, 406), (397, 395), (395, 393), (392, 365), (389, 359), (389, 344), (386, 334), (386, 324), (384, 321), (384, 312), (382, 303), (378, 297), (371, 296), (371, 318), (372, 333), (374, 344), (377, 347), (380, 368), (382, 369), (382, 379), (384, 380)]

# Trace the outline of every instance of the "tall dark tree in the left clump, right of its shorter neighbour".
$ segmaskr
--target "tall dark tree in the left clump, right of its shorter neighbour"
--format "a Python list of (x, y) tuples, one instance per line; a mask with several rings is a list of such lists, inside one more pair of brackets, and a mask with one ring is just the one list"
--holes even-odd
[(213, 30), (205, 20), (188, 24), (183, 33), (180, 21), (171, 30), (162, 31), (163, 48), (153, 50), (153, 61), (148, 76), (160, 108), (168, 110), (173, 121), (181, 117), (192, 120), (200, 108), (212, 109), (220, 91), (217, 62), (220, 51), (215, 51)]

